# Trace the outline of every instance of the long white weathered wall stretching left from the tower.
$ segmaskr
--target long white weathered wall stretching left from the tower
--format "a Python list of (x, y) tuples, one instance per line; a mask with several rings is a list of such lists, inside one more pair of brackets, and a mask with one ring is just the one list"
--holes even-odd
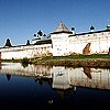
[(26, 46), (15, 46), (15, 47), (3, 47), (0, 50), (1, 59), (19, 59), (19, 58), (33, 58), (51, 53), (52, 44), (43, 45), (26, 45)]

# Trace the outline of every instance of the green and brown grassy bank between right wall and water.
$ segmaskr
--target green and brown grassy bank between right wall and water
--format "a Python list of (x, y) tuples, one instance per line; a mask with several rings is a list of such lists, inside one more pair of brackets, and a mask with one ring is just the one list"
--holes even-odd
[(72, 56), (48, 56), (36, 58), (34, 64), (74, 66), (74, 67), (106, 67), (110, 68), (110, 55), (72, 55)]

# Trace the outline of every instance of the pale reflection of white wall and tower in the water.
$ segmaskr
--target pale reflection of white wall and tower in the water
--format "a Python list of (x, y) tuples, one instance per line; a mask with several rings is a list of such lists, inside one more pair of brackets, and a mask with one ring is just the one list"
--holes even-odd
[(78, 86), (110, 89), (110, 69), (89, 67), (64, 67), (29, 65), (23, 67), (19, 63), (1, 63), (0, 74), (7, 75), (10, 80), (12, 75), (30, 76), (41, 86), (48, 81), (53, 89), (69, 89)]

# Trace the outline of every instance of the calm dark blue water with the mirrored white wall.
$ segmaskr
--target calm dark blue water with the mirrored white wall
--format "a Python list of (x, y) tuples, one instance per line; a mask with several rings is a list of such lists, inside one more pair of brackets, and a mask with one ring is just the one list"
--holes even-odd
[(1, 63), (0, 107), (110, 110), (110, 69)]

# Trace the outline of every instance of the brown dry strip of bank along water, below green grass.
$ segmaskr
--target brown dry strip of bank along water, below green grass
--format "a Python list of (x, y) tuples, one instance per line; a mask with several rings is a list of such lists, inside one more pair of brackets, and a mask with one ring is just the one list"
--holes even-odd
[(47, 59), (36, 61), (35, 64), (55, 65), (55, 66), (75, 66), (75, 67), (105, 67), (110, 68), (110, 59), (108, 58), (85, 58), (85, 59)]

